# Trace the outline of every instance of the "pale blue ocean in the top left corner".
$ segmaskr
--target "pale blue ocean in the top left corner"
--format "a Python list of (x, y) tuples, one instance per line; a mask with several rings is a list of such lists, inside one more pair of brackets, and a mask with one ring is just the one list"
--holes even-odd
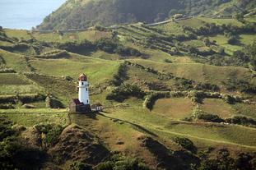
[(0, 0), (0, 26), (31, 30), (67, 0)]

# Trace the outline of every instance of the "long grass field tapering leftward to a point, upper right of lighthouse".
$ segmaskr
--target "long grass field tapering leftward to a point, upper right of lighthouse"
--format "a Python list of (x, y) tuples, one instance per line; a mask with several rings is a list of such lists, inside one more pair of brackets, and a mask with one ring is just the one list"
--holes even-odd
[(174, 76), (184, 77), (199, 82), (221, 84), (221, 81), (226, 82), (228, 78), (251, 79), (251, 72), (249, 72), (249, 69), (243, 67), (216, 67), (198, 63), (163, 63), (138, 59), (128, 61), (142, 64), (144, 67), (153, 67), (158, 71), (171, 72)]

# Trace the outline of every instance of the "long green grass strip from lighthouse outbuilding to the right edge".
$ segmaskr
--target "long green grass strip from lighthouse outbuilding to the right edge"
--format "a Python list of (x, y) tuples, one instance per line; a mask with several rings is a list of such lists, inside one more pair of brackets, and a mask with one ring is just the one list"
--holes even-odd
[[(191, 140), (201, 140), (205, 145), (208, 141), (215, 141), (216, 145), (244, 145), (256, 147), (254, 128), (244, 126), (225, 126), (220, 124), (204, 124), (176, 122), (170, 118), (150, 112), (142, 108), (105, 109), (106, 117), (118, 118), (133, 124), (137, 131), (163, 137), (171, 140), (175, 136), (186, 136)], [(140, 128), (143, 127), (143, 128)], [(200, 132), (199, 132), (200, 131)]]

